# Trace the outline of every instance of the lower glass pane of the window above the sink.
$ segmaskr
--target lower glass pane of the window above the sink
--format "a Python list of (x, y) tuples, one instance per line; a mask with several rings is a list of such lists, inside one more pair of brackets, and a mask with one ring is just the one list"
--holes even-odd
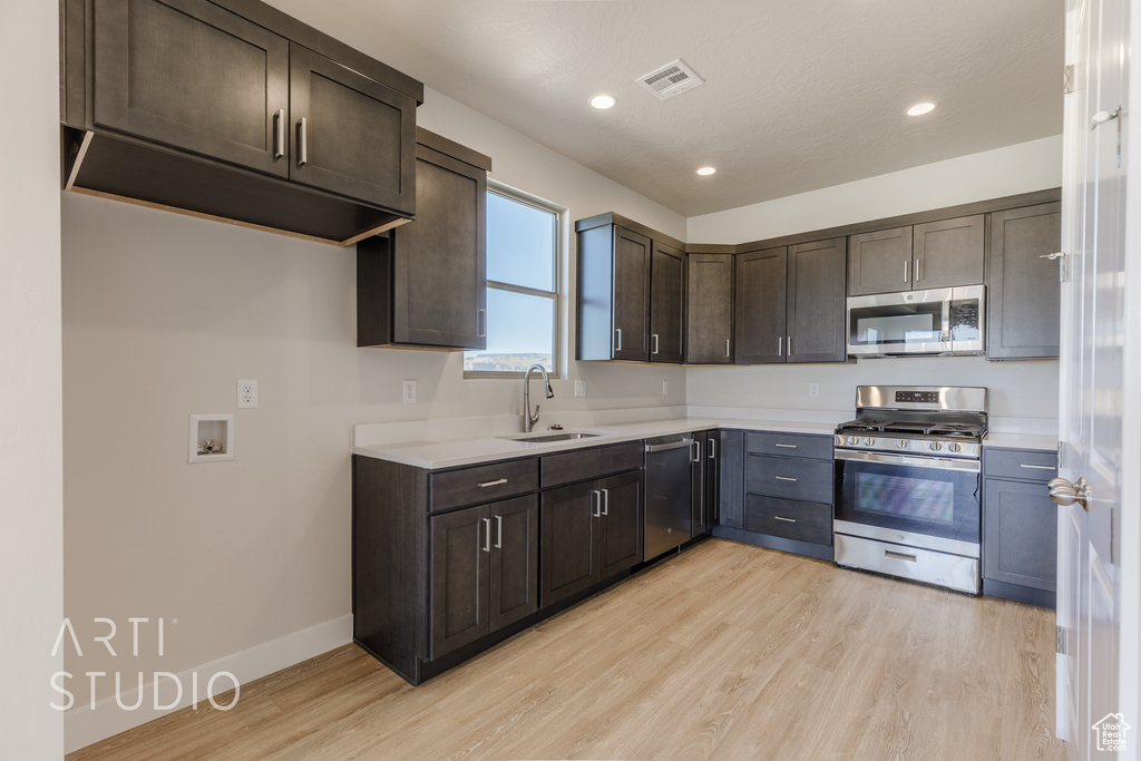
[(534, 364), (553, 372), (555, 300), (487, 289), (487, 348), (464, 351), (468, 372), (518, 372)]

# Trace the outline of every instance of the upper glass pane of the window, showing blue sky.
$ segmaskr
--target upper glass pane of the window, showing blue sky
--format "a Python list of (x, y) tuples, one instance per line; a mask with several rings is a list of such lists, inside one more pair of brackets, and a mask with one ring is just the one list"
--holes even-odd
[(556, 217), (497, 193), (487, 194), (487, 280), (555, 290)]

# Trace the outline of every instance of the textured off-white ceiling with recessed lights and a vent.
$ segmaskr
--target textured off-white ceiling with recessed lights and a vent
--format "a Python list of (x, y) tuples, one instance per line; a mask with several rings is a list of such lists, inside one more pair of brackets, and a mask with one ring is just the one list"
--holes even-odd
[(1061, 0), (270, 3), (686, 217), (1062, 129)]

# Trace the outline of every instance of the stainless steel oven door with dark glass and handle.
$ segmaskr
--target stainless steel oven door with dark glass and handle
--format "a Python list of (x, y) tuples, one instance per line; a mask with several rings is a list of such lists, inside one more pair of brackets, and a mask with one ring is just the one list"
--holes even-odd
[(978, 460), (836, 450), (835, 531), (979, 557)]

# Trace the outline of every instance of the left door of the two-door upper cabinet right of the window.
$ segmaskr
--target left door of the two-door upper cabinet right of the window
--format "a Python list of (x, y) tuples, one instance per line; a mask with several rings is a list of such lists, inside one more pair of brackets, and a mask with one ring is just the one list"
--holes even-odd
[(649, 361), (650, 240), (614, 226), (615, 359)]

